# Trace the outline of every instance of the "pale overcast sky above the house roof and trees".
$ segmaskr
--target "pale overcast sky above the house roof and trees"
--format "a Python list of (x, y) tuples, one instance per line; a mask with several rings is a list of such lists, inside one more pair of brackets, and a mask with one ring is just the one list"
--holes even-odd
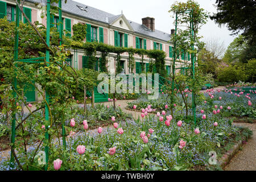
[[(150, 16), (155, 18), (155, 29), (167, 32), (170, 34), (171, 29), (174, 28), (174, 19), (172, 14), (168, 13), (171, 5), (175, 2), (173, 0), (75, 0), (96, 9), (106, 11), (108, 13), (119, 15), (123, 11), (125, 17), (137, 23), (142, 23), (142, 18)], [(179, 0), (186, 2), (186, 0)], [(200, 7), (212, 13), (217, 13), (216, 7), (213, 6), (216, 0), (197, 0)], [(226, 27), (218, 27), (212, 20), (208, 19), (201, 30), (200, 35), (204, 39), (220, 39), (224, 42), (225, 47), (236, 38), (231, 36), (231, 32)]]

